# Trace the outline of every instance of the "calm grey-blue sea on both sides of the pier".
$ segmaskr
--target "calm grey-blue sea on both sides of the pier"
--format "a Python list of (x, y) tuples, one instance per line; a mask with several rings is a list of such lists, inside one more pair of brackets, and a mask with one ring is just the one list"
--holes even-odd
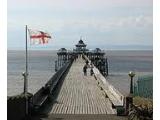
[[(107, 50), (104, 51), (109, 63), (109, 76), (123, 75), (128, 77), (129, 71), (138, 75), (153, 74), (153, 51), (152, 50)], [(29, 80), (28, 90), (35, 93), (54, 75), (56, 50), (28, 51)], [(23, 92), (25, 71), (25, 51), (7, 51), (7, 96), (17, 95)], [(123, 79), (119, 80), (123, 81)], [(110, 79), (112, 84), (120, 88), (123, 84)], [(125, 91), (125, 90), (124, 90)]]

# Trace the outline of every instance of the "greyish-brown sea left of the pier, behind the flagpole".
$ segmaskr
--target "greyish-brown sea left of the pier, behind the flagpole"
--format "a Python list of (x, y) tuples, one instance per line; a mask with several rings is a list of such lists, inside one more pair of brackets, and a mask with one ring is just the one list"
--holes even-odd
[[(8, 51), (7, 54), (7, 95), (16, 95), (23, 92), (25, 71), (25, 51)], [(57, 59), (55, 51), (29, 51), (28, 90), (35, 93), (55, 73), (54, 61)]]

